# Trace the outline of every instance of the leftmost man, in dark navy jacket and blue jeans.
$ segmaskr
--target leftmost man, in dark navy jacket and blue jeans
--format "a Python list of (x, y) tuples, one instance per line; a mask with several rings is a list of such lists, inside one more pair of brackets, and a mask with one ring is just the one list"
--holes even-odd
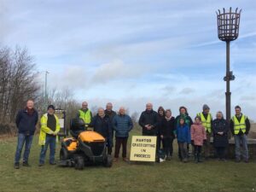
[(34, 109), (34, 102), (28, 100), (26, 108), (21, 109), (16, 116), (16, 125), (19, 130), (18, 143), (15, 154), (15, 169), (20, 168), (20, 155), (25, 143), (25, 151), (23, 154), (23, 166), (28, 165), (28, 156), (32, 146), (32, 138), (36, 131), (38, 123), (38, 112)]

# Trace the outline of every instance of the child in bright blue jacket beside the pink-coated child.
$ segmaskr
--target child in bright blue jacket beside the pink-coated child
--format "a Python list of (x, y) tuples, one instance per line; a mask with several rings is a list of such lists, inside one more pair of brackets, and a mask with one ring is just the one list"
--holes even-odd
[(185, 123), (185, 119), (180, 117), (177, 124), (177, 144), (178, 144), (178, 153), (179, 158), (184, 163), (188, 162), (189, 153), (187, 144), (191, 141), (189, 125)]

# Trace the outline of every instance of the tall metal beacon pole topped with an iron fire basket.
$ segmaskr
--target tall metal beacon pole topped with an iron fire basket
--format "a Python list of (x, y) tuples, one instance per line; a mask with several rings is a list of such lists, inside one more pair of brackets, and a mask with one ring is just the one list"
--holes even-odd
[(236, 8), (235, 12), (232, 9), (225, 11), (223, 13), (218, 9), (217, 20), (218, 20), (218, 38), (221, 41), (226, 42), (226, 76), (224, 81), (226, 82), (226, 119), (230, 124), (230, 106), (231, 106), (231, 93), (230, 93), (230, 81), (235, 80), (235, 76), (232, 71), (230, 71), (230, 41), (236, 40), (239, 34), (239, 24), (241, 9), (239, 12)]

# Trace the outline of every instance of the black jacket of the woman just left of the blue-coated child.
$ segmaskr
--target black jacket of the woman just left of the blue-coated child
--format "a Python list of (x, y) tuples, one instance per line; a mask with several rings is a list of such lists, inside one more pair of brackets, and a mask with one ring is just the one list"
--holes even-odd
[(174, 138), (174, 131), (176, 131), (174, 117), (172, 117), (169, 121), (167, 121), (166, 118), (161, 120), (160, 135), (162, 135), (163, 137)]

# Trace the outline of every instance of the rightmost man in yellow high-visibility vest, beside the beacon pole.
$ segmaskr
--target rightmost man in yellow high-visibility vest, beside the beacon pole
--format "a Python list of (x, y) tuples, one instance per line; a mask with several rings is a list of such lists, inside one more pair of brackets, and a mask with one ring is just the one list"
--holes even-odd
[[(243, 160), (247, 163), (249, 159), (247, 147), (247, 134), (250, 131), (250, 120), (246, 115), (241, 113), (241, 108), (236, 106), (236, 115), (230, 119), (230, 130), (235, 137), (236, 145), (236, 162), (241, 161), (241, 154)], [(242, 150), (241, 150), (242, 145)]]

